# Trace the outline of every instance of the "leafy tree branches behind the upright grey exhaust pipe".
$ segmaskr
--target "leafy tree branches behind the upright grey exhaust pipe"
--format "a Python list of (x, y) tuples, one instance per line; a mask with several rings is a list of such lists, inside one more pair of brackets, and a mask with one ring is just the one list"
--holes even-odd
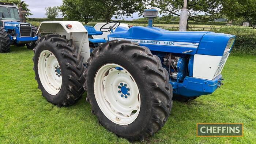
[[(225, 0), (188, 0), (188, 20), (208, 22), (220, 18)], [(184, 0), (144, 0), (143, 3), (150, 7), (160, 9), (164, 15), (180, 16)], [(188, 27), (188, 26), (187, 26)]]

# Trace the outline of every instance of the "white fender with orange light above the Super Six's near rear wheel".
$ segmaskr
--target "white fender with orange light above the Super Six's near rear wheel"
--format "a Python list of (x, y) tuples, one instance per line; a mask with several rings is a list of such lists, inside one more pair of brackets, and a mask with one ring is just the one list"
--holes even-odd
[[(72, 29), (66, 27), (67, 24), (72, 25)], [(90, 57), (90, 47), (87, 30), (83, 24), (75, 21), (54, 21), (42, 22), (37, 33), (44, 34), (60, 34), (66, 35), (67, 39), (72, 39), (73, 44), (79, 48), (79, 53), (84, 57), (83, 63)]]

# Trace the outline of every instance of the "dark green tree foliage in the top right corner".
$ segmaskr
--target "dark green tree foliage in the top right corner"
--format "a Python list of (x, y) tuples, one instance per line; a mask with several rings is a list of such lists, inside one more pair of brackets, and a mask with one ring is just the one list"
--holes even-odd
[(230, 19), (241, 19), (248, 21), (253, 29), (256, 29), (256, 2), (255, 0), (226, 0), (228, 7), (223, 8)]

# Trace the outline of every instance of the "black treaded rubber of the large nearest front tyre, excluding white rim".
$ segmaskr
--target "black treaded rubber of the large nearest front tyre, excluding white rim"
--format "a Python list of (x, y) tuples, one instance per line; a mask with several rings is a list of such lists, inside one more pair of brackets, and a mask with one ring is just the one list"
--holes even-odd
[[(127, 69), (139, 88), (141, 107), (138, 117), (131, 124), (118, 125), (110, 121), (95, 99), (94, 77), (98, 69), (108, 63)], [(160, 59), (152, 55), (147, 47), (131, 41), (109, 41), (93, 50), (86, 65), (84, 87), (87, 88), (87, 101), (100, 124), (130, 142), (143, 141), (163, 127), (172, 109), (173, 89)]]

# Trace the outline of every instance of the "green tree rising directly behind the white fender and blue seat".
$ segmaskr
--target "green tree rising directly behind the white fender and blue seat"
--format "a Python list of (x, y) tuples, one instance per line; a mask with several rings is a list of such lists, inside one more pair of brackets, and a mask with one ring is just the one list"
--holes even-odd
[(64, 19), (78, 20), (86, 24), (100, 18), (94, 0), (63, 0), (59, 10)]

